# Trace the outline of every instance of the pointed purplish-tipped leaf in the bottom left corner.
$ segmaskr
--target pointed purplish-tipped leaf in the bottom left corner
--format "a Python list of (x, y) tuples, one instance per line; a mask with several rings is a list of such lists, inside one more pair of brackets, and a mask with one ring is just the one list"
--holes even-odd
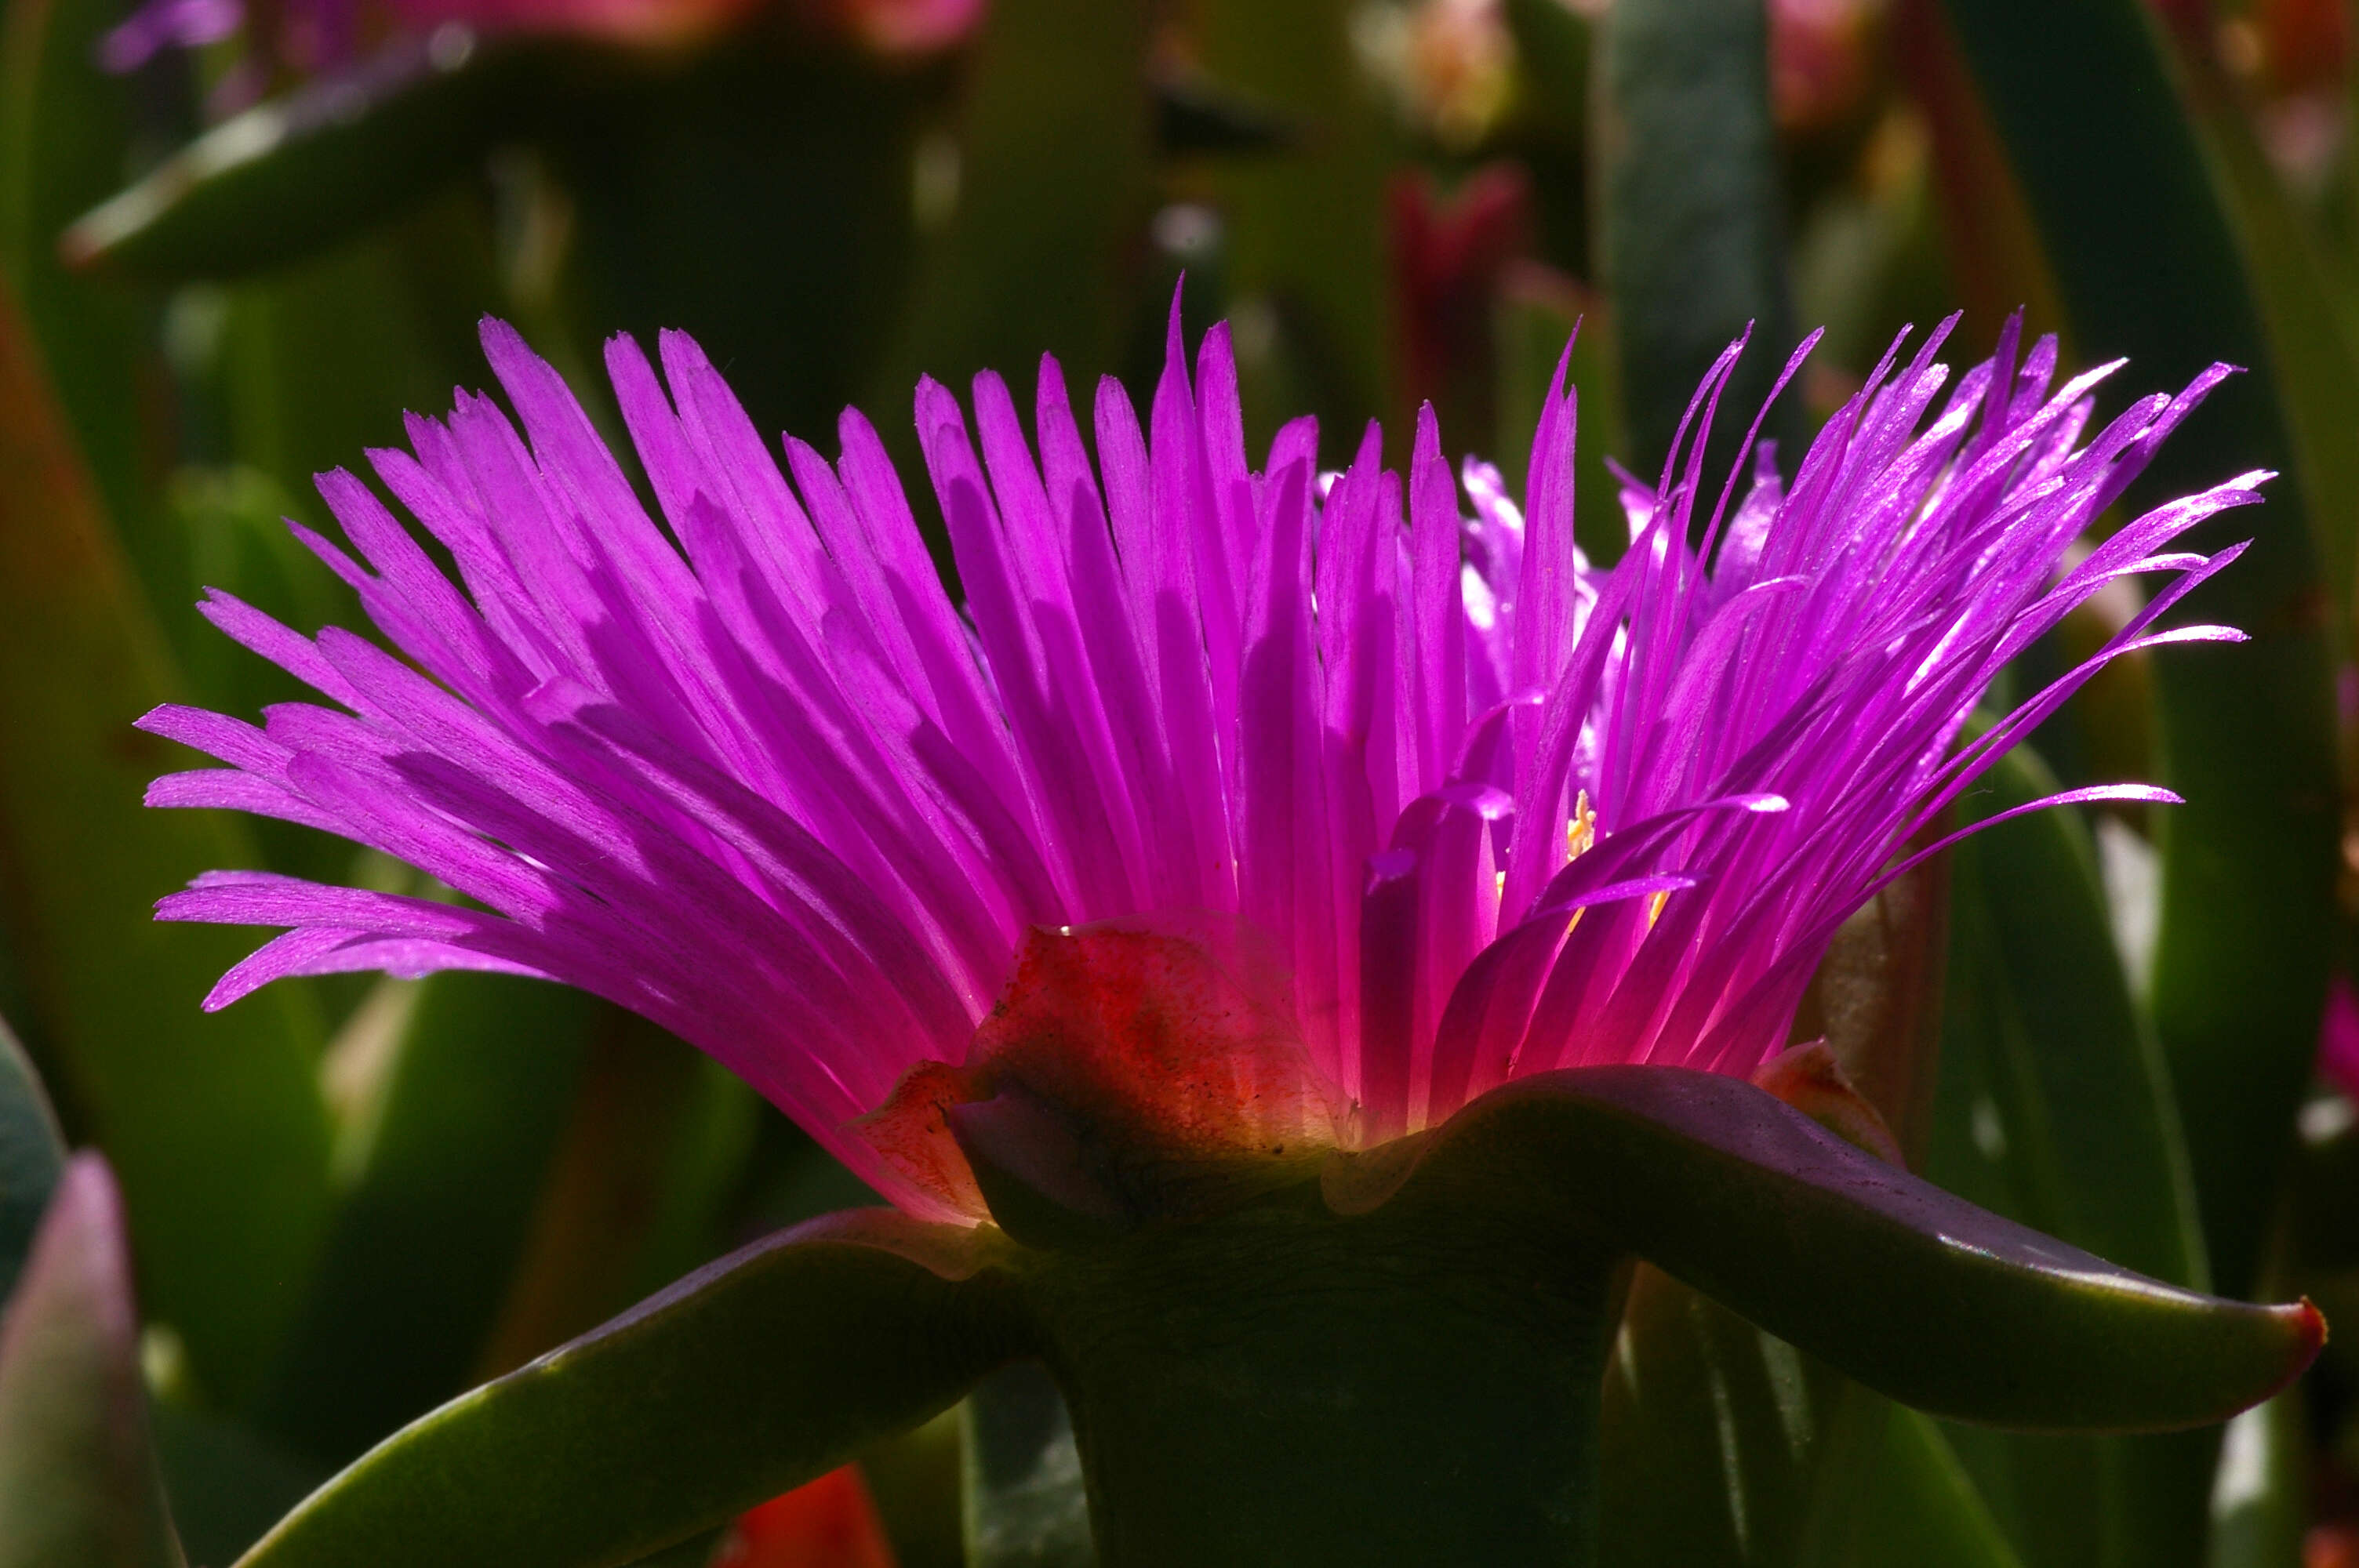
[(123, 1200), (80, 1155), (0, 1316), (0, 1566), (184, 1561), (149, 1445)]

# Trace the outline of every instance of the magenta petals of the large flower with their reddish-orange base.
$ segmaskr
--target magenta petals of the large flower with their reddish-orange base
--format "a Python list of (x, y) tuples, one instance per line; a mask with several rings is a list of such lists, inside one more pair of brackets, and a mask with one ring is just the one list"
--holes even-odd
[[(210, 872), (158, 913), (290, 927), (208, 1007), (344, 969), (594, 990), (922, 1217), (984, 1214), (944, 1108), (993, 1075), (1267, 1151), (1366, 1146), (1559, 1066), (1750, 1073), (1996, 755), (2109, 658), (2239, 637), (2149, 627), (2241, 549), (2170, 542), (2265, 474), (2059, 575), (2227, 370), (2083, 441), (2107, 370), (2050, 394), (2055, 340), (2017, 365), (2012, 328), (1927, 420), (1944, 332), (1894, 347), (1790, 488), (1765, 448), (1734, 509), (1698, 472), (1732, 347), (1661, 486), (1628, 488), (1609, 571), (1573, 547), (1562, 368), (1524, 507), (1470, 462), (1472, 521), (1430, 413), (1406, 483), (1375, 427), (1316, 474), (1309, 420), (1253, 469), (1227, 328), (1191, 382), (1175, 323), (1144, 429), (1097, 387), (1095, 462), (1054, 361), (1033, 439), (977, 377), (979, 453), (920, 382), (960, 611), (859, 413), (840, 460), (788, 439), (781, 472), (694, 342), (663, 337), (658, 380), (613, 340), (658, 523), (486, 323), (521, 434), (460, 396), (370, 453), (460, 580), (347, 472), (321, 493), (361, 559), (295, 526), (399, 655), (215, 592), (205, 615), (328, 705), (142, 719), (229, 764), (151, 804), (309, 823), (469, 903)], [(2130, 573), (2170, 580), (1958, 745), (1991, 677)], [(2173, 799), (2057, 799), (2097, 797)]]

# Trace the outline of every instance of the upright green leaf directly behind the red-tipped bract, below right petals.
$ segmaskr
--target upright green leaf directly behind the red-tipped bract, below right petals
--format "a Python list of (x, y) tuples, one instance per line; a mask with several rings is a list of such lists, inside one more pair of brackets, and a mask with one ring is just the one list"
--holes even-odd
[[(1967, 799), (2057, 785), (2029, 750)], [(1930, 1174), (2000, 1214), (2180, 1285), (2203, 1283), (2170, 1080), (2130, 1002), (2088, 830), (2036, 811), (1951, 851), (1953, 929)], [(2192, 1563), (2208, 1438), (1956, 1431), (2029, 1563)]]

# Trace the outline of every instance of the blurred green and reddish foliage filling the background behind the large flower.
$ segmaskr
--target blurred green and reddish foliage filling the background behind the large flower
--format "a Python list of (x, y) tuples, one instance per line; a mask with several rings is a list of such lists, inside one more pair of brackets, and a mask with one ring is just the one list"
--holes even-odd
[[(1371, 417), (1406, 457), (1432, 401), (1453, 453), (1522, 474), (1581, 323), (1578, 531), (1606, 561), (1604, 457), (1651, 472), (1748, 323), (1743, 413), (1824, 328), (1762, 431), (1788, 462), (1953, 311), (1953, 363), (2015, 311), (2066, 365), (2133, 356), (2107, 408), (2243, 365), (2125, 507), (2281, 472), (2199, 611), (2255, 644), (2116, 663), (1970, 809), (2050, 778), (2189, 804), (1958, 849), (1847, 927), (1798, 1037), (1937, 1181), (2359, 1323), (2354, 90), (2345, 0), (7, 0), (0, 1290), (52, 1127), (99, 1146), (144, 1330), (92, 1365), (137, 1361), (189, 1561), (226, 1563), (408, 1417), (859, 1203), (580, 995), (340, 976), (201, 1014), (243, 936), (151, 927), (158, 894), (210, 865), (415, 877), (139, 811), (172, 757), (130, 719), (297, 696), (189, 604), (359, 622), (281, 516), (328, 526), (314, 472), (481, 384), (484, 314), (609, 424), (602, 340), (677, 325), (762, 427), (819, 441), (859, 401), (892, 441), (920, 373), (1050, 349), (1144, 391), (1184, 274), (1187, 328), (1234, 323), (1248, 439), (1312, 410), (1330, 465)], [(2010, 681), (2135, 608), (2107, 589)], [(52, 1276), (35, 1254), (12, 1332), (109, 1290)], [(1885, 1405), (1642, 1273), (1616, 1372), (1616, 1563), (2359, 1563), (2354, 1335), (2225, 1438), (2031, 1441)], [(9, 1391), (0, 1365), (0, 1502), (38, 1408)], [(1010, 1375), (665, 1561), (1071, 1563), (1080, 1509), (1054, 1391)]]

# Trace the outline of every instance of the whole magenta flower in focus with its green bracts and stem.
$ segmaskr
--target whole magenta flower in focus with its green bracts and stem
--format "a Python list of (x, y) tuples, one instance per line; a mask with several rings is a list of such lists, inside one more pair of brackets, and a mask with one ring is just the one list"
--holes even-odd
[[(1109, 1568), (1588, 1563), (1632, 1252), (1944, 1415), (2156, 1429), (2284, 1386), (2307, 1306), (2125, 1276), (1746, 1082), (1996, 755), (2107, 658), (2236, 637), (2154, 625), (2236, 554), (2177, 538), (2262, 474), (2064, 564), (2225, 370), (2092, 429), (2104, 370), (2050, 387), (2055, 342), (2017, 361), (2010, 330), (1951, 382), (1941, 337), (1743, 495), (1701, 457), (1732, 347), (1599, 568), (1562, 363), (1517, 505), (1451, 474), (1432, 413), (1406, 474), (1375, 427), (1321, 474), (1309, 420), (1253, 467), (1229, 335), (1191, 358), (1175, 311), (1144, 422), (1097, 387), (1095, 457), (1054, 361), (1031, 429), (995, 375), (972, 417), (920, 382), (960, 604), (859, 413), (835, 462), (781, 465), (696, 344), (618, 337), (651, 512), (488, 323), (514, 417), (460, 396), (370, 455), (455, 580), (351, 474), (321, 479), (349, 547), (297, 526), (394, 651), (215, 592), (323, 703), (142, 719), (226, 764), (153, 804), (314, 825), (462, 901), (224, 870), (160, 915), (283, 927), (208, 1007), (349, 969), (594, 990), (901, 1214), (755, 1243), (425, 1417), (255, 1568), (630, 1561), (1021, 1356)], [(1963, 740), (2128, 575), (2163, 587)], [(2095, 797), (2170, 799), (2057, 799)], [(552, 1448), (580, 1485), (519, 1502), (502, 1464)]]

